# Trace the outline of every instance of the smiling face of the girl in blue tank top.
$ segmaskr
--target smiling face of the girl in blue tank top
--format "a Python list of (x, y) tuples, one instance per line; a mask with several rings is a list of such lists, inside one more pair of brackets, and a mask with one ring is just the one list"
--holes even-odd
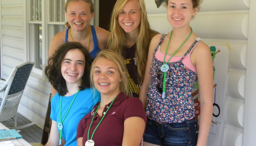
[(69, 2), (65, 14), (71, 28), (77, 31), (86, 29), (94, 16), (94, 12), (90, 11), (90, 4), (84, 1)]

